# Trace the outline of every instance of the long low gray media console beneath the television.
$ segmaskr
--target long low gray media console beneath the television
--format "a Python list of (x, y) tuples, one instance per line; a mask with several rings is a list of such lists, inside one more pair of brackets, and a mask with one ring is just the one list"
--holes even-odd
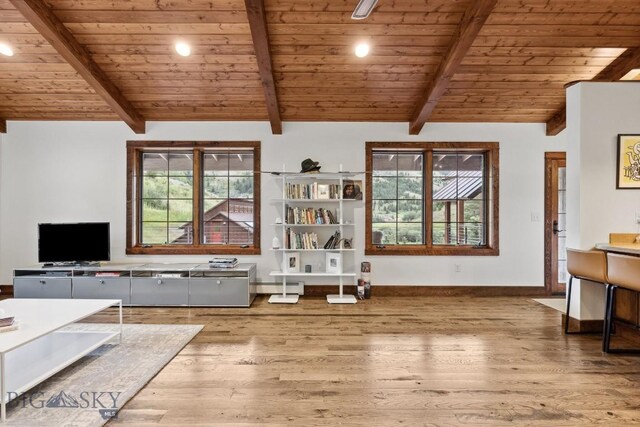
[(256, 265), (136, 264), (14, 270), (15, 298), (120, 299), (125, 305), (249, 307)]

